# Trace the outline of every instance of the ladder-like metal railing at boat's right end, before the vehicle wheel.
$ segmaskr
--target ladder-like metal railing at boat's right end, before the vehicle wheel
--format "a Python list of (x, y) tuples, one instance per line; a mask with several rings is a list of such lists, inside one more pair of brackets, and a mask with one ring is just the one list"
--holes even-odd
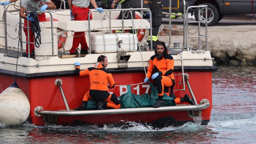
[[(186, 17), (188, 16), (188, 11), (189, 9), (192, 8), (197, 8), (198, 10), (198, 21), (186, 21), (186, 48), (187, 51), (190, 51), (189, 47), (188, 47), (188, 38), (197, 38), (198, 37), (198, 49), (201, 49), (201, 37), (205, 37), (205, 50), (208, 50), (208, 45), (207, 45), (207, 5), (199, 5), (199, 6), (190, 6), (187, 8), (186, 10)], [(200, 10), (201, 8), (205, 8), (205, 20), (206, 21), (202, 21), (200, 20)], [(200, 23), (205, 23), (205, 35), (201, 34), (201, 29), (200, 29)], [(197, 36), (188, 36), (188, 24), (189, 23), (198, 23), (198, 35)]]

